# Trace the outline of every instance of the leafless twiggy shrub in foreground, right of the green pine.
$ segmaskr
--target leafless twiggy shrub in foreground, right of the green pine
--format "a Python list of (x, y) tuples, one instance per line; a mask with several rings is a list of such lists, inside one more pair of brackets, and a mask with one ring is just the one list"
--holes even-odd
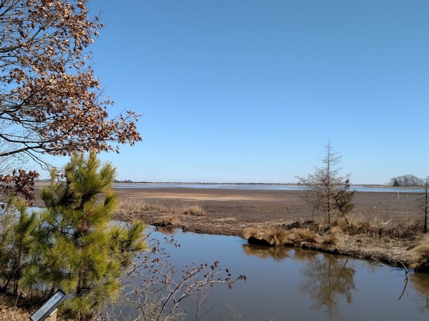
[(236, 281), (246, 280), (245, 275), (233, 278), (228, 268), (221, 269), (217, 261), (177, 268), (165, 250), (180, 246), (173, 237), (164, 238), (163, 243), (150, 234), (146, 239), (152, 250), (135, 258), (122, 280), (119, 302), (106, 305), (96, 320), (187, 320), (188, 307), (184, 303), (189, 297), (198, 300), (194, 317), (199, 320), (202, 316), (198, 308), (210, 288), (216, 284), (231, 288)]

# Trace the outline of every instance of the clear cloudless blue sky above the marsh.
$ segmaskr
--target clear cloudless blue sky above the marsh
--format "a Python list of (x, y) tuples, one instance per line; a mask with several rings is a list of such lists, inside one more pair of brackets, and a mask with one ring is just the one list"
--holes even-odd
[(429, 1), (91, 7), (110, 113), (142, 114), (143, 142), (101, 155), (119, 179), (296, 182), (328, 141), (352, 183), (429, 175)]

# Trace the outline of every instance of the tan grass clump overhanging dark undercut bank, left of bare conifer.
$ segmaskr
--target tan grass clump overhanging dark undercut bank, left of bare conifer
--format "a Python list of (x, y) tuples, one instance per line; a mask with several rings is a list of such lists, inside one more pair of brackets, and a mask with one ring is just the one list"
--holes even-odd
[(271, 246), (292, 244), (290, 233), (281, 228), (248, 227), (244, 229), (243, 237), (251, 244)]

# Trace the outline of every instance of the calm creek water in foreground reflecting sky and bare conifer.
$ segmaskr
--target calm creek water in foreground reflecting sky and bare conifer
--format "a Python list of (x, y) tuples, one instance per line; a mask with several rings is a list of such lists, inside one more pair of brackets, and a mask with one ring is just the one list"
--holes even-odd
[[(199, 320), (429, 320), (429, 275), (311, 250), (249, 245), (236, 236), (171, 232), (176, 267), (219, 261), (246, 281), (210, 290)], [(153, 232), (163, 239), (166, 235)], [(198, 319), (194, 301), (188, 320)], [(204, 314), (206, 313), (206, 314)]]

